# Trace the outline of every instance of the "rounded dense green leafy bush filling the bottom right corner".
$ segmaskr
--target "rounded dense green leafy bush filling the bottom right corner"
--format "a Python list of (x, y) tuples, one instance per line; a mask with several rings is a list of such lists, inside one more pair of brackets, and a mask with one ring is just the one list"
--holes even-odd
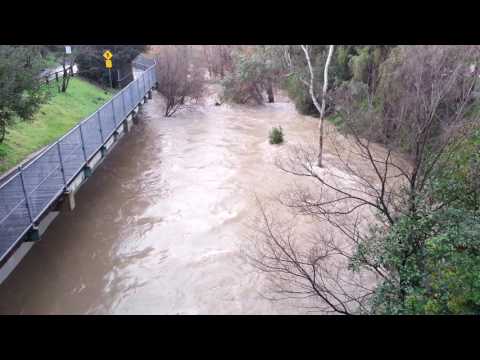
[(400, 219), (382, 239), (378, 257), (395, 269), (398, 283), (376, 289), (372, 312), (480, 313), (479, 233), (480, 213), (463, 208)]

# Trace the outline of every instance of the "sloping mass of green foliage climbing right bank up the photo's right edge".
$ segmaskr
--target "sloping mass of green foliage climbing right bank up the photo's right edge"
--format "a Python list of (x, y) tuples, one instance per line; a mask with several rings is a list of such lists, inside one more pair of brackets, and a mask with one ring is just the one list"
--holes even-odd
[(392, 275), (376, 288), (372, 313), (480, 313), (480, 130), (451, 150), (415, 211), (372, 227), (356, 249), (352, 270), (368, 259)]

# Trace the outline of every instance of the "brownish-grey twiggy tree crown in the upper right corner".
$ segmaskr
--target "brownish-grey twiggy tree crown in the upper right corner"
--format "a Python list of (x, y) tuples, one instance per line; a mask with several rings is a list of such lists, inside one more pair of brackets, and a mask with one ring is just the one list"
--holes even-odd
[[(354, 78), (334, 92), (337, 111), (342, 111), (342, 107), (355, 108), (357, 114), (351, 117), (351, 124), (361, 137), (414, 157), (419, 139), (435, 151), (449, 137), (450, 127), (459, 121), (474, 122), (478, 105), (471, 101), (474, 99), (468, 90), (472, 78), (459, 75), (468, 71), (465, 65), (468, 48), (399, 46), (389, 51), (378, 66), (374, 61), (384, 58), (382, 49), (364, 48), (360, 55), (352, 57)], [(365, 72), (370, 67), (372, 70)], [(376, 85), (365, 83), (367, 73), (368, 78), (378, 74)], [(467, 93), (468, 101), (463, 102), (461, 99)], [(366, 108), (369, 113), (362, 112), (362, 103), (370, 105)], [(419, 128), (424, 128), (424, 134), (428, 135), (417, 136)]]

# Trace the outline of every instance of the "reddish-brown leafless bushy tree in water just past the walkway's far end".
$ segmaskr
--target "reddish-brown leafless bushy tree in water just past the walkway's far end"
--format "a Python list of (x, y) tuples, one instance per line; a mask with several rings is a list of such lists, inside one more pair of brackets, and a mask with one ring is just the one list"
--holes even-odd
[(202, 96), (204, 74), (186, 46), (165, 46), (157, 62), (158, 92), (165, 98), (165, 117), (195, 104)]

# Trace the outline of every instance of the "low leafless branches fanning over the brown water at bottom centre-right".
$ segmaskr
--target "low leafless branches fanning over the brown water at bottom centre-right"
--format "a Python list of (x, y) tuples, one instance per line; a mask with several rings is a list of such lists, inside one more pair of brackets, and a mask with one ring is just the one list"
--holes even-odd
[[(353, 314), (366, 311), (373, 289), (361, 274), (348, 271), (349, 256), (332, 236), (299, 234), (297, 223), (280, 221), (257, 199), (260, 214), (253, 222), (246, 258), (270, 281), (272, 300), (298, 300), (309, 312)], [(305, 246), (307, 245), (307, 246)], [(320, 301), (318, 301), (320, 300)]]

